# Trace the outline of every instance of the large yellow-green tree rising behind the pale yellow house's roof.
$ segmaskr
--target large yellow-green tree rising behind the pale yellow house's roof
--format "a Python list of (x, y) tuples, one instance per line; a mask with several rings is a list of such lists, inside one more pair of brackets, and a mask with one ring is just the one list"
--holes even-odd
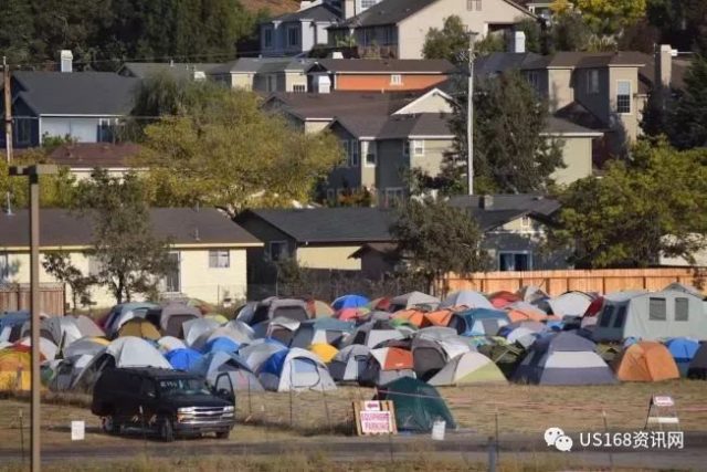
[(145, 130), (140, 166), (160, 206), (204, 204), (235, 216), (247, 206), (306, 201), (341, 161), (328, 132), (304, 134), (260, 108), (256, 95), (187, 84), (184, 109)]

